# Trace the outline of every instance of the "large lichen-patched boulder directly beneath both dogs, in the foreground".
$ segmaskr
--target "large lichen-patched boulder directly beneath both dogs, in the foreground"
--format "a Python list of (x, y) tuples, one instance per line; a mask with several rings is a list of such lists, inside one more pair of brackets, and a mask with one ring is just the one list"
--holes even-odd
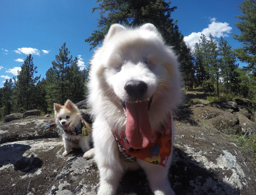
[[(256, 193), (253, 159), (227, 135), (195, 126), (178, 126), (177, 132), (169, 173), (176, 195)], [(60, 138), (1, 144), (1, 194), (96, 195), (99, 170), (93, 159), (85, 160), (79, 149), (68, 156), (63, 151)], [(142, 169), (125, 172), (116, 194), (153, 195)]]

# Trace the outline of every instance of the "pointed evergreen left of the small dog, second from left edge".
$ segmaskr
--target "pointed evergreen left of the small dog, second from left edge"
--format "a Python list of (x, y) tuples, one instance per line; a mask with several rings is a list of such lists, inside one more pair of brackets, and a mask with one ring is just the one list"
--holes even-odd
[(33, 64), (33, 57), (29, 54), (18, 72), (14, 89), (15, 111), (24, 112), (36, 107), (37, 94), (35, 85), (40, 79), (34, 77), (37, 66)]

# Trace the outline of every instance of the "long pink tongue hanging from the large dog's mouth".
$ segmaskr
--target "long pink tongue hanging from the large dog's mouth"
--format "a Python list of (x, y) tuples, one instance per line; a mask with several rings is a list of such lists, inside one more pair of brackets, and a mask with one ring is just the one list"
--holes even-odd
[(148, 103), (126, 103), (126, 137), (134, 149), (145, 148), (151, 138), (151, 125), (148, 119)]

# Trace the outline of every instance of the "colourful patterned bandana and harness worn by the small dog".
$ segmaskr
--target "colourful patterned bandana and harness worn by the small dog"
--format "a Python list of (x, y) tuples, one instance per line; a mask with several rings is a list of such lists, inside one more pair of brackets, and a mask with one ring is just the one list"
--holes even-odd
[[(52, 123), (50, 125), (47, 125), (44, 130), (48, 131), (48, 130), (55, 129), (56, 127), (57, 125), (55, 123)], [(64, 130), (64, 129), (61, 129), (61, 130)], [(58, 132), (60, 132), (61, 130), (58, 130)], [(66, 133), (69, 133), (70, 135), (89, 135), (88, 130), (86, 129), (85, 120), (82, 117), (80, 118), (80, 122), (76, 126), (73, 126), (72, 128), (66, 129), (64, 131)], [(67, 140), (70, 141), (71, 143), (78, 144), (78, 139), (74, 140), (70, 138)]]

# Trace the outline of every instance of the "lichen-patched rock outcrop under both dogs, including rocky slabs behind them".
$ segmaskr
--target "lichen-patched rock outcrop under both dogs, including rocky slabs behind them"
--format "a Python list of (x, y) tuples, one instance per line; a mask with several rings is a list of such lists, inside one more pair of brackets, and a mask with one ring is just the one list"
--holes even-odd
[[(225, 134), (256, 131), (254, 116), (249, 119), (235, 105), (180, 106), (173, 116), (177, 133), (169, 179), (176, 195), (256, 195), (253, 157)], [(97, 194), (97, 165), (85, 160), (81, 150), (62, 156), (61, 139), (46, 138), (44, 131), (53, 121), (31, 117), (1, 124), (1, 195)], [(19, 137), (20, 132), (24, 135)], [(6, 135), (8, 140), (3, 139)], [(124, 173), (117, 195), (152, 195), (144, 172)]]

